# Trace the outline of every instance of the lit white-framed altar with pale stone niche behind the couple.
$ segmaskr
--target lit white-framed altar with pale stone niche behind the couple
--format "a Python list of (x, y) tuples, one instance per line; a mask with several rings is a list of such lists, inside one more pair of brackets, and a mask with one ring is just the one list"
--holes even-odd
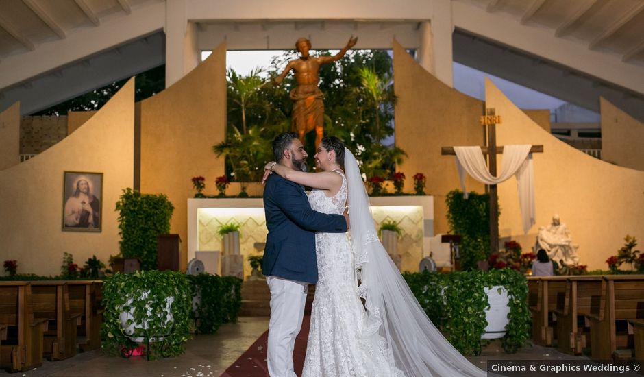
[[(402, 271), (418, 271), (434, 236), (434, 197), (371, 197), (370, 202), (376, 230), (384, 221), (395, 221), (401, 228), (397, 250)], [(217, 231), (227, 223), (240, 225), (240, 254), (245, 260), (244, 276), (249, 276), (247, 258), (262, 254), (268, 233), (262, 198), (188, 199), (188, 260), (195, 258), (195, 252), (221, 251), (222, 237)]]

